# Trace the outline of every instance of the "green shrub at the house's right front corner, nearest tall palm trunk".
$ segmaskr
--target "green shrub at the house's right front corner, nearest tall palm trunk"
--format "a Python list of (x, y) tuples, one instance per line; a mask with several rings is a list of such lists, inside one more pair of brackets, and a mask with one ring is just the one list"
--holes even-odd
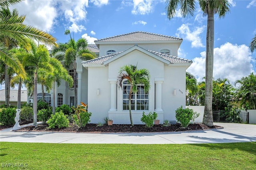
[(178, 107), (175, 112), (175, 117), (182, 127), (187, 127), (190, 121), (194, 121), (194, 119), (200, 115), (199, 113), (194, 112), (193, 109), (183, 109), (182, 106)]

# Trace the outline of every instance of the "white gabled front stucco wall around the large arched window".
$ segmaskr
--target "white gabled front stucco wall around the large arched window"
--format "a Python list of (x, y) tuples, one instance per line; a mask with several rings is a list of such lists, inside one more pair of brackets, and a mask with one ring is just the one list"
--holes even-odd
[[(117, 88), (117, 111), (110, 109), (110, 82), (116, 80), (118, 71), (125, 64), (137, 65), (138, 69), (147, 68), (150, 72), (149, 110), (155, 109), (155, 80), (162, 83), (162, 109), (156, 111), (160, 123), (164, 119), (175, 120), (175, 110), (181, 105), (185, 106), (186, 95), (186, 66), (167, 66), (163, 62), (134, 50), (112, 61), (108, 66), (88, 67), (88, 111), (92, 112), (91, 123), (102, 121), (103, 117), (110, 117), (113, 123), (129, 124), (129, 111), (122, 110), (122, 90)], [(97, 95), (97, 89), (100, 94)], [(176, 89), (176, 95), (173, 90)], [(141, 124), (142, 111), (132, 111), (134, 124)]]

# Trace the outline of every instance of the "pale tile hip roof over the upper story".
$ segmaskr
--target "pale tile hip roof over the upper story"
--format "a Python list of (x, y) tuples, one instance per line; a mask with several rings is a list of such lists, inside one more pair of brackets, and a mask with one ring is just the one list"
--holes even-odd
[(136, 31), (113, 37), (107, 37), (94, 41), (96, 44), (101, 42), (134, 42), (134, 41), (182, 41), (181, 38), (144, 31)]

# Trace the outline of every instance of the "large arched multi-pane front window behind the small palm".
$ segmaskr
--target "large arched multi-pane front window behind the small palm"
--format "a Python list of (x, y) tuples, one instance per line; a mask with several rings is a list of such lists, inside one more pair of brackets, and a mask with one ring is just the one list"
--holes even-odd
[[(129, 92), (131, 84), (129, 82), (123, 82), (123, 110), (129, 110)], [(136, 95), (132, 93), (131, 109), (132, 110), (148, 110), (148, 92), (144, 92), (144, 85), (139, 84), (137, 86)]]

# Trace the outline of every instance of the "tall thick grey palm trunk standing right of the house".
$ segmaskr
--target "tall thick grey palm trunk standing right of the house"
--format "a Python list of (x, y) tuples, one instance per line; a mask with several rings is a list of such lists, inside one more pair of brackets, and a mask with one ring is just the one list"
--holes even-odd
[(213, 50), (214, 50), (214, 10), (208, 6), (206, 33), (206, 61), (205, 61), (205, 100), (203, 122), (213, 126), (212, 117), (212, 78), (213, 78)]

